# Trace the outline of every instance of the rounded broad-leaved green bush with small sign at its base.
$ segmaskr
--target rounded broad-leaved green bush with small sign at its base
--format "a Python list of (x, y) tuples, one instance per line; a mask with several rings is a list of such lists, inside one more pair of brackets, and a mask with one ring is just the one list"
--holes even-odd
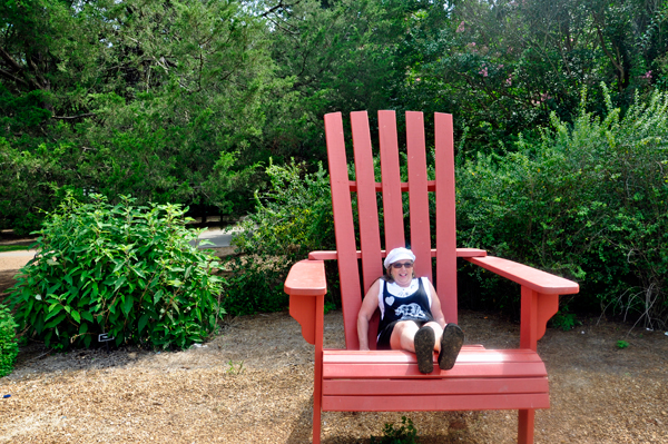
[(57, 349), (116, 344), (187, 347), (216, 328), (220, 278), (213, 256), (189, 245), (178, 205), (116, 206), (71, 196), (38, 231), (38, 258), (10, 292), (20, 332)]

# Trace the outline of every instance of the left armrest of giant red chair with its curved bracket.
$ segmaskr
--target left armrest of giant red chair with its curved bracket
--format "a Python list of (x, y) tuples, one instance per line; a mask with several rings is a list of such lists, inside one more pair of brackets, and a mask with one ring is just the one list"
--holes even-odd
[(285, 284), (289, 295), (289, 315), (302, 326), (302, 336), (322, 353), (324, 302), (327, 293), (325, 263), (301, 260), (292, 266)]

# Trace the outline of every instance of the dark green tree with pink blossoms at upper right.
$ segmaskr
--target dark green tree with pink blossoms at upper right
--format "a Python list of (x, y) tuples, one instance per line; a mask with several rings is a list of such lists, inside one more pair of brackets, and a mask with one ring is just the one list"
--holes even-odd
[[(442, 16), (440, 9), (425, 9)], [(658, 1), (477, 0), (456, 2), (440, 27), (415, 20), (411, 66), (400, 102), (446, 110), (470, 151), (547, 125), (573, 121), (579, 92), (603, 112), (598, 85), (613, 87), (622, 111), (636, 91), (665, 85), (667, 6)]]

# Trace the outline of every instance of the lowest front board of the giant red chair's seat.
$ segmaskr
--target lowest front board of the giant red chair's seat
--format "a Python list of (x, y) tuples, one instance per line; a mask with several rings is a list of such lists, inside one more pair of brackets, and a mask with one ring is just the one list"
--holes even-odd
[(510, 395), (324, 396), (327, 412), (423, 412), (549, 408), (547, 393)]

